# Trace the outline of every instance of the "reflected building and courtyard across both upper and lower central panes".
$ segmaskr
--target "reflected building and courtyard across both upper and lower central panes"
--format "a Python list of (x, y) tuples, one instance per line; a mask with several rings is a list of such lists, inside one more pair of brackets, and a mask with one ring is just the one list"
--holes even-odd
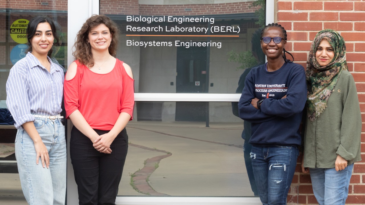
[[(251, 53), (251, 36), (260, 27), (249, 9), (252, 2), (169, 3), (119, 1), (110, 7), (100, 2), (100, 13), (122, 31), (117, 58), (131, 66), (135, 92), (235, 93), (244, 69), (264, 61)], [(222, 8), (231, 6), (237, 9)], [(177, 23), (168, 22), (168, 16), (214, 21)], [(157, 31), (138, 30), (142, 27)], [(178, 31), (187, 27), (207, 32)], [(229, 61), (234, 54), (250, 63)], [(119, 195), (254, 196), (243, 158), (243, 120), (232, 108), (231, 102), (136, 102)]]

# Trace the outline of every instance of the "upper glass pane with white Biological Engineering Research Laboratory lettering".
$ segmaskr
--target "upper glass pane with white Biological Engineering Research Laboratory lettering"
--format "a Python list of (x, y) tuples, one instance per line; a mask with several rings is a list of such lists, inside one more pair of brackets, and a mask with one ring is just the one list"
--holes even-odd
[(135, 92), (235, 93), (242, 69), (264, 62), (251, 53), (260, 27), (252, 2), (173, 2), (100, 1), (122, 31), (117, 57), (131, 66)]

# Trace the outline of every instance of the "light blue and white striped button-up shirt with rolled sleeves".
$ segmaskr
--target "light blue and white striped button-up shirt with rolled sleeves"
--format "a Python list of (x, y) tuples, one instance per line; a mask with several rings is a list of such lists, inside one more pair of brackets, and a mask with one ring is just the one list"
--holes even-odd
[(31, 52), (10, 70), (6, 82), (6, 104), (17, 129), (35, 120), (32, 113), (52, 116), (62, 111), (64, 72), (47, 58), (51, 62), (50, 72)]

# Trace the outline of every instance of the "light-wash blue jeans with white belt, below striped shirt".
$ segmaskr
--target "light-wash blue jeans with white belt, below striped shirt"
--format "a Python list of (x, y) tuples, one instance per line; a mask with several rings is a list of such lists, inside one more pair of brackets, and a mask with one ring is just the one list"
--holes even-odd
[(50, 165), (37, 165), (33, 140), (24, 129), (15, 138), (15, 156), (24, 197), (29, 205), (64, 205), (66, 198), (66, 138), (63, 119), (36, 117), (34, 126), (47, 147)]

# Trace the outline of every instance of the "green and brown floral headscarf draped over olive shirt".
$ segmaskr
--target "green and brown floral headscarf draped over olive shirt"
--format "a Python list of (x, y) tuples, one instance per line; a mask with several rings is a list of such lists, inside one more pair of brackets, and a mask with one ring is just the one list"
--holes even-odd
[[(316, 51), (322, 39), (327, 39), (334, 49), (334, 58), (326, 66), (320, 66), (316, 60)], [(327, 107), (327, 100), (335, 87), (342, 70), (348, 70), (346, 63), (345, 40), (336, 31), (319, 31), (312, 42), (307, 60), (307, 115), (314, 121)]]

